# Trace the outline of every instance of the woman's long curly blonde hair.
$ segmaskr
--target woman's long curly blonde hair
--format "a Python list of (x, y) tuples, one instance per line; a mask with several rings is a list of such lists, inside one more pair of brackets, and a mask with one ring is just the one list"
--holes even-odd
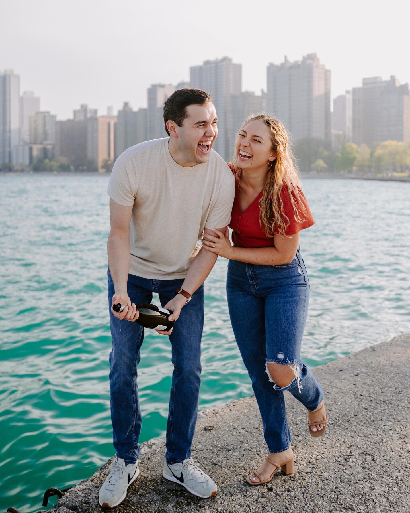
[[(276, 154), (276, 160), (273, 161), (271, 167), (267, 162), (268, 176), (263, 184), (262, 198), (259, 201), (260, 227), (268, 238), (272, 238), (275, 233), (285, 235), (286, 228), (288, 228), (290, 221), (283, 212), (283, 201), (280, 196), (282, 187), (288, 187), (296, 221), (302, 222), (305, 220), (300, 215), (303, 215), (303, 212), (300, 212), (296, 205), (296, 203), (298, 203), (298, 205), (302, 205), (303, 210), (305, 210), (303, 203), (300, 201), (302, 186), (297, 167), (293, 162), (288, 134), (280, 121), (266, 114), (258, 114), (256, 116), (249, 117), (243, 123), (241, 130), (251, 121), (263, 121), (263, 123), (269, 127), (271, 132), (272, 151)], [(241, 130), (239, 130), (239, 132)], [(239, 132), (236, 139), (238, 138)], [(232, 168), (235, 171), (236, 180), (240, 183), (242, 169), (236, 162), (236, 155), (234, 155), (232, 159)]]

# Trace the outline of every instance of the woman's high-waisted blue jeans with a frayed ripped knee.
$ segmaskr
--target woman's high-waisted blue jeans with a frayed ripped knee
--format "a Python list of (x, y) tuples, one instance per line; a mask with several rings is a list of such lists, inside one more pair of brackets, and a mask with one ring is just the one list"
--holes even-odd
[[(314, 411), (323, 389), (300, 359), (300, 346), (308, 313), (310, 285), (297, 251), (290, 264), (254, 265), (229, 261), (227, 293), (236, 342), (252, 380), (269, 452), (291, 446), (283, 391)], [(279, 387), (268, 363), (289, 365), (294, 380)]]

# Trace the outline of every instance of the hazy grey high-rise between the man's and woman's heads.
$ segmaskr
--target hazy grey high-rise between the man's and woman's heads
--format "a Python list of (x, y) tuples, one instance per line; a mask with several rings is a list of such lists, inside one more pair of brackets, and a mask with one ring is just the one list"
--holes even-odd
[[(266, 93), (261, 91), (255, 94), (252, 91), (242, 91), (231, 96), (231, 137), (227, 159), (231, 159), (234, 152), (235, 138), (243, 122), (250, 116), (260, 114), (266, 110)], [(219, 135), (218, 135), (219, 137)]]

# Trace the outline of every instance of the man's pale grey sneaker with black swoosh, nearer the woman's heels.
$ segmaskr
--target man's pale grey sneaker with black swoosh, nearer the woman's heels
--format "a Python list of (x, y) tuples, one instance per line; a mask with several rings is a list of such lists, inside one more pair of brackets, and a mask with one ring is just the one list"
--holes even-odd
[(173, 483), (185, 486), (191, 494), (202, 499), (213, 497), (218, 493), (218, 488), (212, 479), (197, 467), (192, 458), (183, 460), (182, 463), (168, 465), (165, 462), (162, 476)]

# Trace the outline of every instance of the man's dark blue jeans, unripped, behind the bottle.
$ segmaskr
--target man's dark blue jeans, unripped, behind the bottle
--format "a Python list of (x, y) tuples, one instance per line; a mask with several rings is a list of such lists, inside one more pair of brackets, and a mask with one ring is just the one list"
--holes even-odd
[[(132, 303), (151, 303), (157, 292), (162, 306), (175, 296), (183, 280), (149, 280), (128, 275), (127, 291)], [(144, 341), (144, 328), (136, 322), (120, 321), (111, 312), (114, 284), (108, 269), (112, 351), (110, 353), (111, 421), (116, 455), (126, 465), (139, 457), (141, 410), (137, 390), (137, 365)], [(191, 444), (198, 411), (203, 328), (203, 285), (182, 307), (169, 337), (172, 346), (171, 397), (167, 423), (167, 463), (178, 463), (191, 456)]]

